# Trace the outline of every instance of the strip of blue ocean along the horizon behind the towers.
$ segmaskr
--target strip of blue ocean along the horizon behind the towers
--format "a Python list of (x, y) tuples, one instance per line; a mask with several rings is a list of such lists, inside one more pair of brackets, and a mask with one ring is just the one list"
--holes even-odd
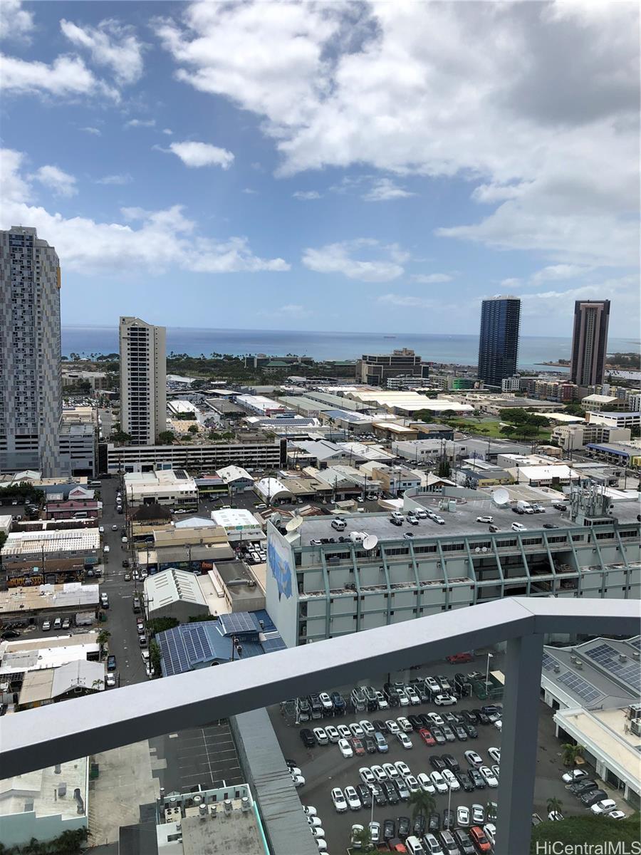
[[(540, 363), (569, 359), (570, 339), (521, 336), (519, 368), (535, 369)], [(363, 353), (389, 353), (412, 348), (426, 362), (475, 365), (479, 355), (477, 335), (432, 335), (420, 333), (309, 333), (267, 329), (196, 329), (167, 327), (167, 352), (190, 356), (228, 353), (243, 356), (295, 353), (314, 359), (357, 359)], [(91, 353), (118, 351), (117, 327), (62, 327), (62, 353), (81, 357)], [(638, 352), (636, 339), (610, 339), (609, 351)], [(559, 370), (559, 369), (556, 369)]]

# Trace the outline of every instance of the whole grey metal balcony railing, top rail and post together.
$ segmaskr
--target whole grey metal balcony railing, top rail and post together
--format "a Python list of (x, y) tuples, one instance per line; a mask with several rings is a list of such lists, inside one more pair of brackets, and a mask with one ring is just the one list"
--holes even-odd
[(509, 598), (4, 716), (3, 777), (507, 641), (497, 855), (529, 852), (544, 635), (638, 634), (637, 601)]

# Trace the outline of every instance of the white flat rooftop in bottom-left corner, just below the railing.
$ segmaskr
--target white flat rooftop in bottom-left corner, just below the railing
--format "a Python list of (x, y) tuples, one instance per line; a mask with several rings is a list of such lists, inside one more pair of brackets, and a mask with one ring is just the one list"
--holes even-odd
[(0, 781), (0, 815), (33, 811), (37, 817), (56, 816), (75, 819), (79, 802), (74, 793), (79, 790), (83, 810), (87, 811), (89, 758), (79, 758), (48, 769), (15, 775)]

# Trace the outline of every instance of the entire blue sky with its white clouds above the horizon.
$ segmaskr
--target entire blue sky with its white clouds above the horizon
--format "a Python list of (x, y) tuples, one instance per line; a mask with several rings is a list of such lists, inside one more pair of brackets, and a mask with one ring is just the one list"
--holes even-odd
[(0, 5), (63, 324), (639, 337), (637, 3)]

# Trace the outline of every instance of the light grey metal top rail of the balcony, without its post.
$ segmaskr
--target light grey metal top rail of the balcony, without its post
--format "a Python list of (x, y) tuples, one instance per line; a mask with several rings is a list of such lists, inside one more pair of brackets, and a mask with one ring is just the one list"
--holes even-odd
[(4, 778), (531, 634), (638, 634), (639, 604), (509, 598), (4, 716)]

